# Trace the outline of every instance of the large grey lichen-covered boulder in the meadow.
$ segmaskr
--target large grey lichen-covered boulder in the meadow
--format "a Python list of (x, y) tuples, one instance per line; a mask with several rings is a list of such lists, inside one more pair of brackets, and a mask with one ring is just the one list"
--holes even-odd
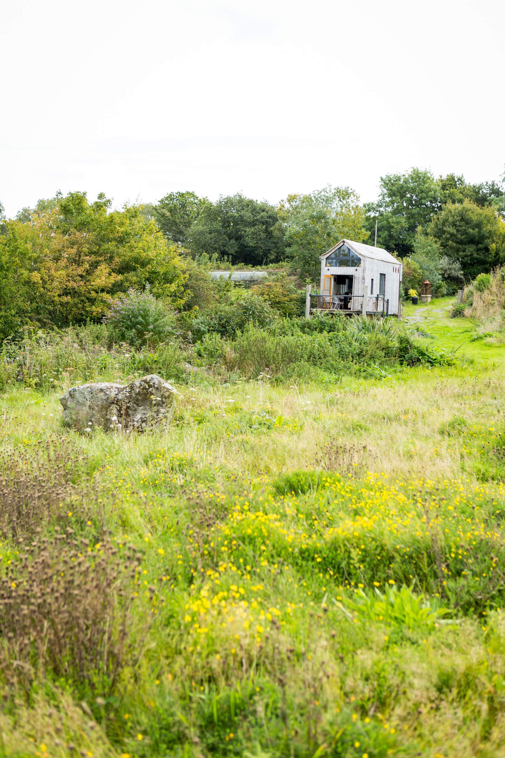
[(170, 412), (177, 390), (156, 374), (130, 384), (98, 382), (70, 387), (60, 398), (67, 426), (78, 431), (144, 431)]

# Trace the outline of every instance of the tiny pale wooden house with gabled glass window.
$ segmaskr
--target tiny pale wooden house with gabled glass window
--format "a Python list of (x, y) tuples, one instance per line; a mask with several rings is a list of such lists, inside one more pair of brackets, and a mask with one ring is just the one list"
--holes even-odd
[(341, 240), (321, 255), (321, 294), (311, 310), (397, 316), (402, 269), (380, 247)]

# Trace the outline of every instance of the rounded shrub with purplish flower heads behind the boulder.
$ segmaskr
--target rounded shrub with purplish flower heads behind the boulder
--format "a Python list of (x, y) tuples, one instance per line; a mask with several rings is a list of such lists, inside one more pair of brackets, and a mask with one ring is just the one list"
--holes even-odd
[(143, 292), (130, 289), (126, 295), (114, 300), (103, 321), (115, 341), (142, 347), (175, 336), (175, 316), (170, 305), (151, 295), (147, 284)]

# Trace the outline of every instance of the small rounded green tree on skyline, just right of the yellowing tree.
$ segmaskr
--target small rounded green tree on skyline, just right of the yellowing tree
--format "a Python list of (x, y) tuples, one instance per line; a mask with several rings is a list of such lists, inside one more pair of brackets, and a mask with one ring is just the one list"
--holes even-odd
[(154, 220), (169, 240), (186, 245), (192, 226), (208, 204), (194, 192), (171, 192), (152, 206)]

